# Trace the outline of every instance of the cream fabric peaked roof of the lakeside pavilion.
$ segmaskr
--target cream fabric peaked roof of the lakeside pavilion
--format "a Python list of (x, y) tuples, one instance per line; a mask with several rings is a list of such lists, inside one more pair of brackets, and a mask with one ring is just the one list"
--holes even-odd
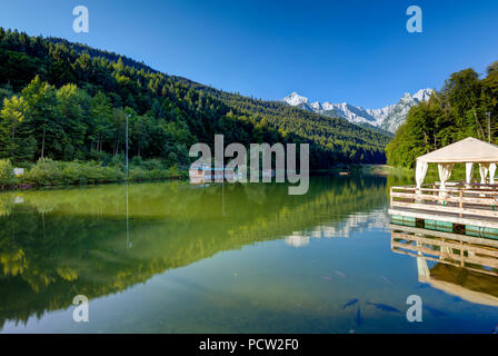
[(467, 137), (460, 141), (437, 149), (417, 158), (417, 162), (427, 164), (496, 164), (498, 146)]

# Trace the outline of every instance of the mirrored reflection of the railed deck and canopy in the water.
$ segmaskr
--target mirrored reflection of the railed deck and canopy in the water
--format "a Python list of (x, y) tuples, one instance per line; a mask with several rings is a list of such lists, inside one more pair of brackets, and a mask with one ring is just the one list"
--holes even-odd
[(498, 307), (498, 240), (390, 225), (391, 249), (417, 259), (418, 280)]

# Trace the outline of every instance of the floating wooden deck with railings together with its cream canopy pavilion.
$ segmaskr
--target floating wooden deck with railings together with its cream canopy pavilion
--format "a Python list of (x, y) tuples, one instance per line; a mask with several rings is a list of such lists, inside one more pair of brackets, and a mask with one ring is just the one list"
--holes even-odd
[[(416, 185), (390, 188), (394, 224), (432, 230), (461, 231), (498, 239), (498, 146), (466, 138), (417, 158)], [(424, 184), (429, 164), (437, 164), (439, 181)], [(450, 181), (455, 165), (466, 166), (465, 181)], [(478, 165), (480, 181), (472, 181)]]

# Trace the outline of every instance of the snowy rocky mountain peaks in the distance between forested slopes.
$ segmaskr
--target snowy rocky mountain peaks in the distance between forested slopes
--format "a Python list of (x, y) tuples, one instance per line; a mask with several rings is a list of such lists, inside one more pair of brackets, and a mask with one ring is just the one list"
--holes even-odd
[(369, 123), (384, 130), (396, 132), (398, 127), (405, 122), (408, 110), (420, 101), (429, 100), (434, 89), (420, 89), (415, 95), (405, 93), (398, 103), (389, 105), (380, 109), (363, 109), (347, 102), (309, 102), (308, 98), (296, 91), (285, 97), (282, 101), (303, 110), (317, 112), (329, 117), (340, 117), (352, 123)]

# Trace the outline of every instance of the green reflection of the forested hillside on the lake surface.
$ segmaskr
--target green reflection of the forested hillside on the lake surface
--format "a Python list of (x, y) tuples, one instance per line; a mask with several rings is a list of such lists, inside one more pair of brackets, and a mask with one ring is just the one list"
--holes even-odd
[(295, 231), (340, 235), (387, 201), (385, 177), (315, 178), (306, 196), (287, 192), (285, 185), (172, 181), (2, 194), (0, 327), (220, 251)]

